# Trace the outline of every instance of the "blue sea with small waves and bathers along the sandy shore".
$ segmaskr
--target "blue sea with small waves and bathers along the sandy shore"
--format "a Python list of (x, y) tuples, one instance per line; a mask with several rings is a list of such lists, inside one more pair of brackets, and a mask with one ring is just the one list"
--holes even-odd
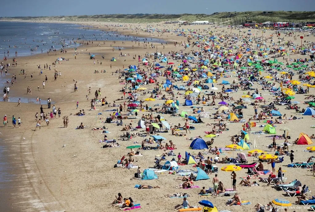
[(15, 57), (15, 52), (20, 57), (42, 52), (47, 54), (51, 48), (57, 50), (63, 47), (73, 48), (79, 46), (74, 42), (77, 39), (79, 39), (78, 41), (131, 41), (137, 39), (165, 43), (156, 38), (128, 37), (112, 31), (102, 31), (91, 26), (77, 24), (0, 21), (0, 58)]

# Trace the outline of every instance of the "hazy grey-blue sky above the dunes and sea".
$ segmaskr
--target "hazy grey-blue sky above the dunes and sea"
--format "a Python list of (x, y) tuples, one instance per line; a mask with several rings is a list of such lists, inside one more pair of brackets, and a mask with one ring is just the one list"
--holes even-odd
[(257, 10), (315, 11), (315, 0), (16, 0), (3, 1), (0, 16), (212, 14)]

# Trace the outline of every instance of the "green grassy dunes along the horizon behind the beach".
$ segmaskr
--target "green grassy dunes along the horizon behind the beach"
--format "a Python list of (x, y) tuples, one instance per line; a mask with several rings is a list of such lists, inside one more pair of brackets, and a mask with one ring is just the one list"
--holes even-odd
[(272, 22), (307, 22), (315, 21), (315, 12), (299, 11), (249, 11), (249, 12), (220, 12), (207, 14), (108, 14), (108, 15), (76, 15), (76, 16), (45, 16), (45, 17), (2, 17), (0, 20), (28, 21), (75, 21), (75, 22), (121, 22), (121, 23), (150, 23), (161, 21), (184, 20), (188, 22), (207, 20), (214, 23), (242, 24), (245, 20), (258, 23)]

